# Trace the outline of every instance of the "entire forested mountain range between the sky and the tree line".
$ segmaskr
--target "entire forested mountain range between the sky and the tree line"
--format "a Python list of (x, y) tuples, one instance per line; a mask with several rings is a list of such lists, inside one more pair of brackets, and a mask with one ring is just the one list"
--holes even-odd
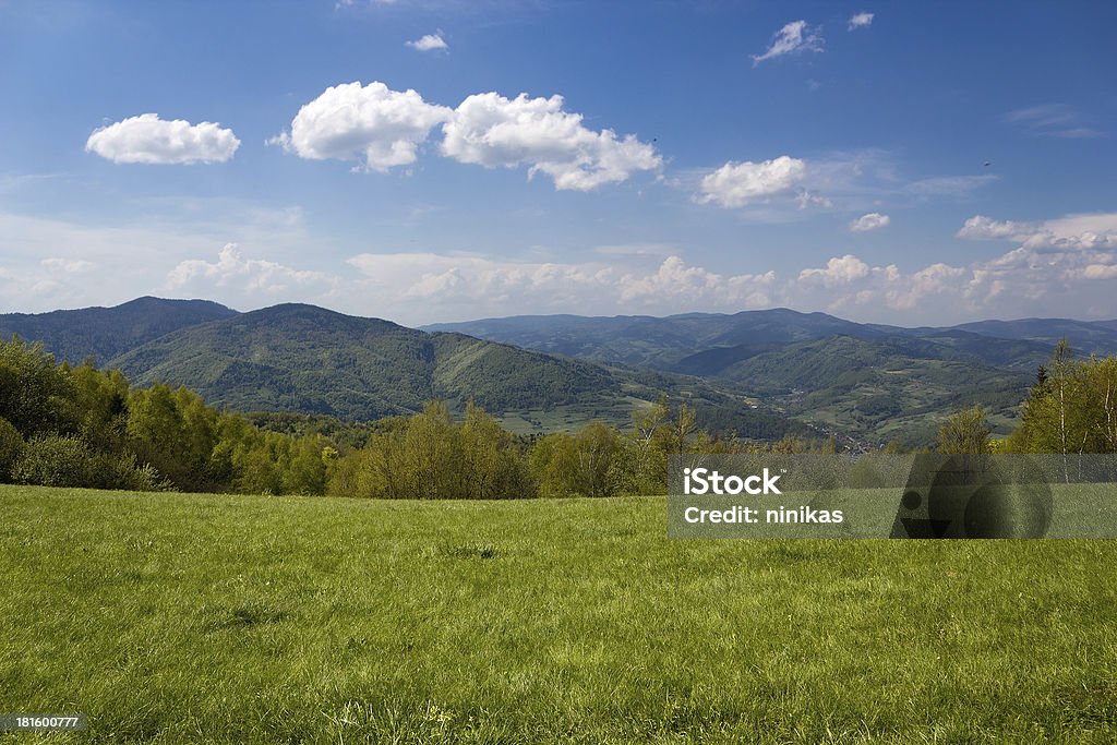
[[(518, 431), (626, 424), (660, 393), (757, 438), (933, 436), (975, 402), (1011, 424), (1037, 367), (1067, 336), (1117, 351), (1117, 322), (1030, 318), (954, 327), (858, 324), (785, 308), (734, 315), (517, 316), (424, 329), (309, 305), (238, 313), (206, 300), (0, 315), (0, 334), (120, 367), (135, 384), (185, 384), (242, 411), (375, 419), (430, 399), (475, 401)], [(813, 427), (812, 430), (810, 427)]]

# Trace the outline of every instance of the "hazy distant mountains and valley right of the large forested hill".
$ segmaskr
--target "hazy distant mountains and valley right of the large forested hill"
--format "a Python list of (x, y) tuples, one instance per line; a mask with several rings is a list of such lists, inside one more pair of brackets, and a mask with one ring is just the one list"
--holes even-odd
[(829, 431), (925, 445), (936, 422), (981, 402), (1000, 432), (1015, 424), (1059, 338), (1117, 352), (1117, 323), (978, 322), (903, 328), (786, 308), (653, 318), (518, 316), (429, 328), (581, 359), (697, 375)]

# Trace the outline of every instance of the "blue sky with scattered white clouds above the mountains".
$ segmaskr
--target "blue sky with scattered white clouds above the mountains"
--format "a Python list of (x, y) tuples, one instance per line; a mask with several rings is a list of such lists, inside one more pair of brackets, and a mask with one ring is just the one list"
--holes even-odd
[(0, 312), (1117, 318), (1114, 2), (0, 0)]

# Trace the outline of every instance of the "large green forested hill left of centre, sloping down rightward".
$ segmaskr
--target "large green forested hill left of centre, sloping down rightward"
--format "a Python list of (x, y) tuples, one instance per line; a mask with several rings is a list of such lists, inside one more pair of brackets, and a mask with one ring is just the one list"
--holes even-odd
[(806, 428), (701, 381), (428, 333), (311, 305), (278, 305), (181, 328), (108, 362), (130, 380), (184, 384), (241, 411), (300, 411), (350, 420), (472, 400), (510, 429), (627, 424), (660, 393), (688, 397), (700, 421), (755, 437)]

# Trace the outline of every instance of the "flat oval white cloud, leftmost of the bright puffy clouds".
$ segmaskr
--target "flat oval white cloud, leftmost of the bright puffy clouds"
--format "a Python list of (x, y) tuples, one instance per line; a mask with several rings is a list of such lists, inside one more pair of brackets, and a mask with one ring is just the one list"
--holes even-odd
[(165, 121), (159, 114), (141, 114), (94, 130), (86, 151), (114, 163), (223, 163), (240, 141), (232, 130), (202, 122)]

